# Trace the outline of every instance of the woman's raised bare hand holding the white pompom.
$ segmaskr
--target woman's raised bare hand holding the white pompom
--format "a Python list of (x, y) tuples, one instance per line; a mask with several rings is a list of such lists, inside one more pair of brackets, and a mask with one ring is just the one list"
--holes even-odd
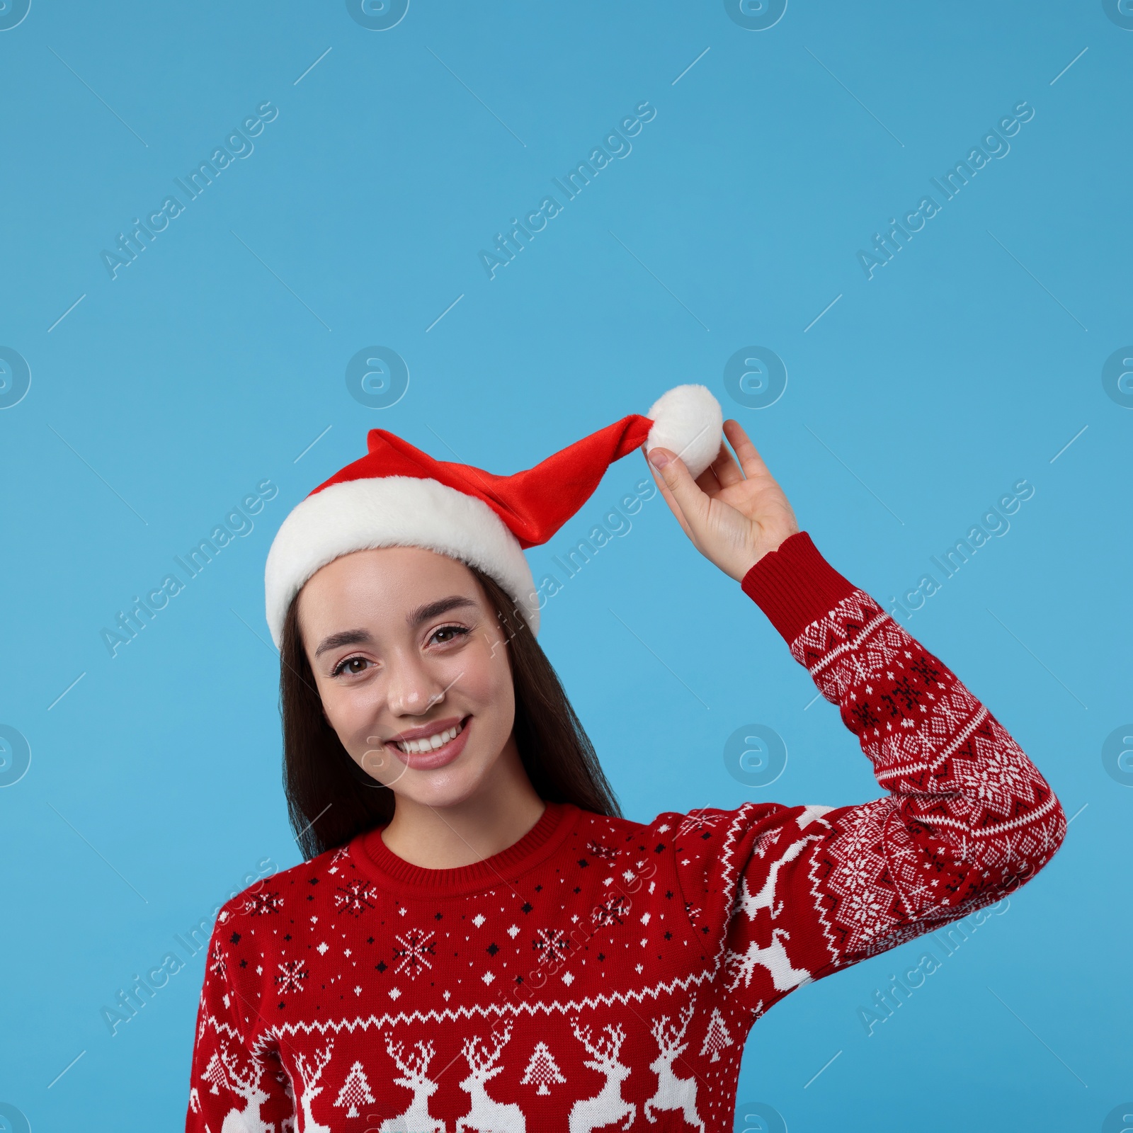
[(739, 582), (765, 554), (794, 535), (799, 522), (740, 423), (724, 421), (724, 435), (735, 457), (721, 442), (719, 454), (696, 479), (668, 449), (651, 449), (646, 457), (692, 545)]

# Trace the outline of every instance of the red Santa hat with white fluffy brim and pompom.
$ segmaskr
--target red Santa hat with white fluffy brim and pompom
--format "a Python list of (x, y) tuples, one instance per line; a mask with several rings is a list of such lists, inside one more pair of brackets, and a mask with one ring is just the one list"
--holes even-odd
[(631, 414), (547, 457), (496, 476), (434, 460), (370, 429), (368, 452), (321, 484), (283, 520), (264, 576), (267, 624), (280, 645), (291, 599), (320, 568), (374, 547), (425, 547), (495, 579), (539, 630), (539, 605), (525, 547), (546, 543), (590, 497), (606, 469), (638, 449), (670, 449), (699, 476), (719, 452), (723, 415), (704, 385), (679, 385), (647, 416)]

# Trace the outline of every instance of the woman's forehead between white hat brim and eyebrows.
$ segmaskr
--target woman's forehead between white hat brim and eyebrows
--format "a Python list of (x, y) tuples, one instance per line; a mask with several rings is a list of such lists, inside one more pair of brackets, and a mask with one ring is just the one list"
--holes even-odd
[(299, 593), (305, 629), (339, 629), (346, 620), (404, 624), (407, 611), (450, 595), (483, 600), (476, 576), (461, 562), (421, 547), (382, 547), (341, 555), (316, 571)]

